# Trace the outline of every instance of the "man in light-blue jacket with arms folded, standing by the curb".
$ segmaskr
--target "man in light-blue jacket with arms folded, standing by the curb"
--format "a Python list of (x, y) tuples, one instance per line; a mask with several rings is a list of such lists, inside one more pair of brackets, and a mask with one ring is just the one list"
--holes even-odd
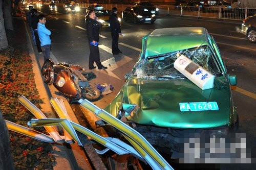
[(37, 33), (41, 42), (41, 48), (44, 52), (44, 61), (50, 59), (51, 52), (51, 31), (46, 28), (46, 16), (39, 15), (39, 22), (37, 23)]

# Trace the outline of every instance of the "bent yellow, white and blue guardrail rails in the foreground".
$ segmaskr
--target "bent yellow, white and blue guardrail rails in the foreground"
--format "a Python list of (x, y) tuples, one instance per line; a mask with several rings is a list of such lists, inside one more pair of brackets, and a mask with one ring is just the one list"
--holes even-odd
[[(107, 148), (102, 151), (95, 149), (98, 154), (104, 154), (108, 150), (112, 150), (118, 155), (131, 154), (134, 157), (140, 159), (141, 161), (148, 163), (153, 169), (173, 169), (172, 166), (170, 166), (166, 162), (166, 160), (162, 158), (162, 156), (141, 134), (139, 134), (137, 131), (127, 126), (108, 112), (93, 105), (88, 100), (80, 100), (81, 106), (93, 111), (102, 120), (120, 130), (123, 133), (123, 136), (133, 145), (134, 148), (117, 138), (102, 137), (83, 126), (72, 122), (67, 114), (63, 101), (59, 101), (57, 98), (51, 99), (50, 102), (60, 118), (46, 118), (45, 114), (42, 113), (23, 95), (20, 95), (18, 97), (18, 101), (22, 103), (29, 111), (31, 111), (37, 118), (31, 119), (28, 122), (28, 125), (33, 127), (45, 127), (50, 135), (46, 135), (33, 129), (20, 126), (18, 124), (5, 120), (8, 129), (11, 131), (23, 134), (27, 137), (43, 142), (56, 142), (57, 144), (60, 144), (60, 141), (73, 143), (74, 140), (76, 143), (78, 143), (78, 145), (82, 146), (82, 143), (76, 133), (76, 131), (78, 131), (84, 135), (91, 137), (93, 140), (97, 141), (98, 143), (104, 145)], [(63, 136), (60, 136), (58, 134), (54, 126), (61, 126), (63, 128), (65, 132), (65, 138), (62, 138)], [(56, 138), (59, 138), (61, 140), (56, 140)]]

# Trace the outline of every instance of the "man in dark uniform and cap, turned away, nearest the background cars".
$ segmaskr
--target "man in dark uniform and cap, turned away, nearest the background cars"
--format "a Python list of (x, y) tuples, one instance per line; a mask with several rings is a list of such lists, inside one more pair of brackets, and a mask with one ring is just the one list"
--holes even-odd
[(118, 48), (118, 38), (121, 34), (120, 23), (117, 18), (117, 8), (112, 8), (112, 14), (110, 15), (110, 29), (112, 36), (112, 53), (114, 55), (122, 53)]

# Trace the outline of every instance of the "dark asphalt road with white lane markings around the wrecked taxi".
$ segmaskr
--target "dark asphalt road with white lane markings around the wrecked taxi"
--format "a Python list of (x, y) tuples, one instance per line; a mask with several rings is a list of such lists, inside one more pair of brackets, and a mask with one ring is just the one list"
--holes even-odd
[[(46, 27), (51, 30), (52, 54), (59, 62), (79, 64), (88, 68), (89, 46), (84, 15), (86, 10), (78, 13), (68, 13), (62, 6), (50, 10), (48, 6), (35, 7), (40, 13), (47, 14)], [(137, 61), (141, 49), (141, 38), (154, 29), (174, 27), (205, 27), (217, 41), (221, 55), (227, 65), (230, 75), (237, 75), (237, 89), (232, 90), (234, 104), (238, 108), (239, 127), (246, 132), (246, 140), (250, 143), (251, 158), (256, 158), (256, 44), (250, 43), (237, 30), (241, 28), (240, 21), (218, 21), (213, 19), (197, 19), (196, 17), (166, 16), (161, 10), (157, 20), (149, 23), (134, 24), (122, 21), (121, 30), (125, 34), (119, 38), (119, 48), (123, 55), (113, 56), (111, 53), (111, 33), (109, 29), (100, 30), (100, 59), (107, 70), (93, 70), (97, 79), (95, 84), (108, 83), (114, 85), (113, 93), (103, 96), (97, 104), (104, 108), (119, 92), (124, 83), (124, 74), (131, 71)], [(247, 145), (248, 147), (248, 145)], [(247, 167), (248, 165), (246, 165)], [(255, 168), (255, 165), (252, 165)], [(239, 167), (239, 166), (233, 166)], [(248, 168), (251, 168), (248, 167)]]

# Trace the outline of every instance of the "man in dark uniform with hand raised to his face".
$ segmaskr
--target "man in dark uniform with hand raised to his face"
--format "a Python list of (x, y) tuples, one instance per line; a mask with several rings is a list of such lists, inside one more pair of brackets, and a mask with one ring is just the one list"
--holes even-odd
[(96, 17), (94, 11), (89, 12), (89, 18), (86, 20), (86, 29), (89, 40), (90, 56), (89, 56), (89, 69), (96, 68), (93, 64), (96, 62), (98, 69), (106, 69), (101, 64), (99, 59), (99, 29), (102, 27), (99, 19)]

